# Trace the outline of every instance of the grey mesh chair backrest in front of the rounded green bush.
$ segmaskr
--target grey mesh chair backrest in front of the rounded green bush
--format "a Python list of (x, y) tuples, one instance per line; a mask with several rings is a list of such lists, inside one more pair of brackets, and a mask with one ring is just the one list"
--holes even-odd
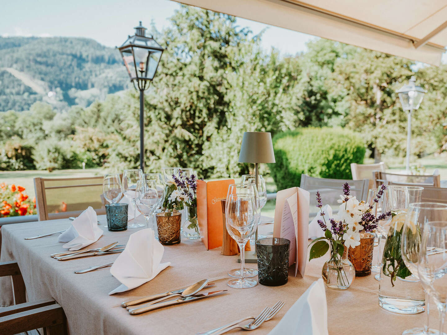
[[(329, 178), (315, 178), (309, 177), (308, 175), (301, 175), (301, 183), (299, 185), (300, 188), (304, 188), (305, 190), (310, 192), (310, 211), (309, 218), (312, 218), (316, 215), (316, 191), (320, 192), (323, 205), (329, 204), (334, 213), (338, 211), (338, 206), (340, 205), (337, 200), (340, 199), (340, 195), (343, 194), (343, 184), (346, 182), (349, 183), (350, 186), (350, 194), (357, 199), (367, 200), (368, 189), (369, 189), (369, 180), (349, 180), (349, 179), (329, 179)], [(312, 215), (313, 214), (313, 215)]]

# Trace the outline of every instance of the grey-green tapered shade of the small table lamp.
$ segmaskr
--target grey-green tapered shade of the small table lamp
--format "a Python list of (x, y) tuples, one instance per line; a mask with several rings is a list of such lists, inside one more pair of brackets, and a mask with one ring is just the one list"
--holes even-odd
[(276, 163), (272, 135), (260, 131), (247, 131), (242, 138), (240, 163)]

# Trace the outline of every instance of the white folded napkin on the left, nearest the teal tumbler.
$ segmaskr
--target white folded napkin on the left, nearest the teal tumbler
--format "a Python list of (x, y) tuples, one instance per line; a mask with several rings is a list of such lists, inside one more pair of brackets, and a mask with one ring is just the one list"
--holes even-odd
[(95, 243), (104, 231), (98, 227), (98, 219), (95, 210), (89, 206), (76, 219), (73, 220), (70, 228), (59, 235), (59, 242), (65, 243), (62, 247), (72, 250), (79, 250), (92, 243)]

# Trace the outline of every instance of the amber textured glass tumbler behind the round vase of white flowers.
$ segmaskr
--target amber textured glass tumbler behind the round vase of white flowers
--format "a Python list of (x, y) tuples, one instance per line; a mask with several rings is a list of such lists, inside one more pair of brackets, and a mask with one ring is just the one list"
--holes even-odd
[(355, 276), (363, 277), (371, 274), (372, 252), (374, 250), (374, 235), (360, 233), (360, 244), (349, 247), (348, 259), (354, 265)]

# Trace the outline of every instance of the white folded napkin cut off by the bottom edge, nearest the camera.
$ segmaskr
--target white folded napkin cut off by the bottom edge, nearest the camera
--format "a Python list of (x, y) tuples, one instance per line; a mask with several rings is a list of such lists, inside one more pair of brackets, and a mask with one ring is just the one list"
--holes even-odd
[(325, 284), (320, 278), (303, 293), (269, 335), (328, 335)]

